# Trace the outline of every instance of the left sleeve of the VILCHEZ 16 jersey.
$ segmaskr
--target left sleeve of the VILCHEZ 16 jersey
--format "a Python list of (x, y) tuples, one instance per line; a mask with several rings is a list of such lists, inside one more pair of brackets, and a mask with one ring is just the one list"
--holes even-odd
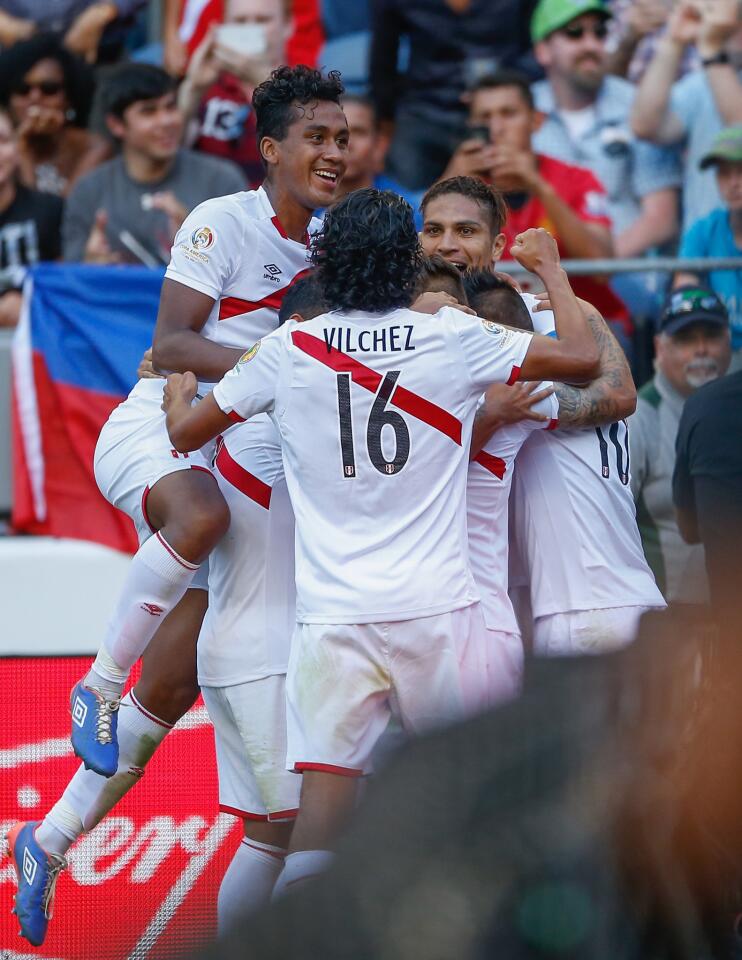
[(283, 334), (279, 329), (258, 340), (214, 387), (217, 406), (237, 423), (273, 409), (286, 350)]

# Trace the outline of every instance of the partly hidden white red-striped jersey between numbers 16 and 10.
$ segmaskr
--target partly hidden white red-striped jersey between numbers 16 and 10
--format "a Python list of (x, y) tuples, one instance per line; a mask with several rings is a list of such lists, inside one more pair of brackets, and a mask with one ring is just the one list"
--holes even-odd
[[(540, 383), (538, 390), (551, 387)], [(552, 394), (534, 408), (546, 422), (521, 420), (498, 430), (469, 464), (466, 481), (466, 517), (469, 562), (482, 597), (482, 612), (489, 630), (519, 633), (508, 597), (508, 500), (516, 457), (534, 430), (558, 425), (559, 404)]]

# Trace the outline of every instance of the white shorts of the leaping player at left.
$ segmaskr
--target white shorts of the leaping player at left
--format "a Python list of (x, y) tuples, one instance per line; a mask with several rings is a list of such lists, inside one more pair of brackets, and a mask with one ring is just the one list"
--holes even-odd
[(154, 532), (147, 496), (162, 477), (179, 470), (206, 470), (202, 451), (178, 453), (165, 426), (163, 380), (140, 380), (103, 426), (95, 447), (95, 481), (103, 496), (134, 521), (139, 543)]

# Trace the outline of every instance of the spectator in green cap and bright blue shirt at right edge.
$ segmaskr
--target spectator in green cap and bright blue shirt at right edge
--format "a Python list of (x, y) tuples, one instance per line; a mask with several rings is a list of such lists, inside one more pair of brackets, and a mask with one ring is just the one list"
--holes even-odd
[[(742, 257), (742, 126), (722, 130), (701, 158), (713, 169), (723, 206), (691, 224), (680, 243), (681, 257)], [(742, 271), (710, 270), (705, 278), (724, 301), (732, 329), (732, 366), (742, 366)], [(689, 273), (675, 277), (675, 286), (699, 283)]]

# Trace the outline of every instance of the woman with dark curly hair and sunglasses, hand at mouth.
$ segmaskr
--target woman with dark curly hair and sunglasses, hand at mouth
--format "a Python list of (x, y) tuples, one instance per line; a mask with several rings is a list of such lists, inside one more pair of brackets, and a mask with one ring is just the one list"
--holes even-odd
[(110, 155), (106, 142), (85, 129), (92, 93), (88, 67), (50, 34), (0, 54), (0, 104), (16, 127), (26, 186), (66, 196)]

